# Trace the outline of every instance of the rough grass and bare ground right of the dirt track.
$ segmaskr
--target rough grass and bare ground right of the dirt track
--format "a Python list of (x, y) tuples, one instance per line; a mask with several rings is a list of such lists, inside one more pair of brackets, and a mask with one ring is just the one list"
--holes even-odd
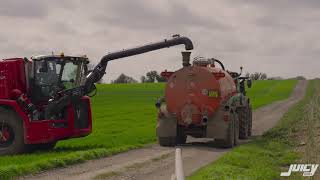
[[(273, 180), (280, 179), (280, 172), (288, 171), (290, 164), (318, 163), (320, 147), (315, 143), (315, 133), (320, 128), (319, 89), (320, 81), (309, 81), (304, 99), (290, 108), (274, 128), (262, 137), (233, 149), (217, 161), (198, 170), (188, 179)], [(316, 104), (313, 104), (313, 101)], [(308, 117), (310, 115), (312, 118)], [(312, 120), (309, 127), (308, 119)], [(311, 138), (305, 138), (306, 134), (310, 134)], [(301, 142), (307, 144), (306, 147), (301, 147)], [(297, 152), (297, 149), (302, 153)], [(302, 156), (309, 157), (299, 161)], [(312, 179), (318, 179), (320, 174), (317, 176)], [(301, 173), (293, 173), (288, 178), (305, 179)]]

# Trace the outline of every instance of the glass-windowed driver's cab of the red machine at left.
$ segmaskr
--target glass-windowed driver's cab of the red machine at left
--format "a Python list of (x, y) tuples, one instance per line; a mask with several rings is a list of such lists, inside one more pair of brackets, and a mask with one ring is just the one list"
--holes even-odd
[(31, 58), (31, 99), (34, 103), (47, 102), (57, 92), (79, 87), (87, 75), (87, 57), (36, 56)]

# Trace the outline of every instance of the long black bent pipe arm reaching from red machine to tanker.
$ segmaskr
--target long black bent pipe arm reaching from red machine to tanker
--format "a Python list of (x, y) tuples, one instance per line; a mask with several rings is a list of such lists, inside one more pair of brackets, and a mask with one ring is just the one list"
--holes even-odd
[(176, 46), (180, 44), (184, 44), (186, 50), (193, 49), (193, 43), (189, 38), (175, 35), (171, 39), (165, 39), (161, 42), (151, 43), (151, 44), (147, 44), (140, 47), (117, 51), (117, 52), (113, 52), (103, 56), (100, 60), (100, 63), (87, 76), (84, 84), (85, 92), (86, 93), (91, 92), (93, 88), (93, 84), (98, 82), (103, 77), (109, 61), (129, 57), (129, 56), (134, 56), (134, 55), (138, 55), (138, 54), (142, 54), (150, 51), (155, 51), (158, 49), (169, 48), (171, 46)]

